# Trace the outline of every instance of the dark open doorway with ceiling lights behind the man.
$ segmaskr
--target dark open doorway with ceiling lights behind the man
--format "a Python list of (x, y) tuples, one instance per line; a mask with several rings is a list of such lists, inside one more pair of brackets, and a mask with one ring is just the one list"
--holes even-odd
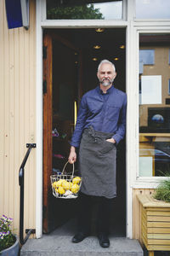
[[(99, 61), (116, 66), (115, 87), (126, 91), (126, 30), (52, 29), (43, 37), (43, 231), (65, 236), (75, 230), (77, 200), (54, 198), (49, 176), (62, 172), (82, 95), (98, 85)], [(117, 147), (117, 197), (111, 235), (126, 236), (126, 144)], [(76, 166), (77, 169), (77, 166)], [(69, 170), (68, 170), (69, 172)], [(69, 211), (68, 211), (69, 209)], [(68, 214), (69, 212), (69, 214)]]

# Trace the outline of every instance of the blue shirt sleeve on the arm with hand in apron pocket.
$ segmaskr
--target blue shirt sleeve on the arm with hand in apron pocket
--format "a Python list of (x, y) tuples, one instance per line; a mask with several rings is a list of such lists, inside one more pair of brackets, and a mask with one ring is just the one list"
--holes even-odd
[(113, 136), (113, 138), (116, 140), (116, 143), (118, 144), (122, 138), (125, 135), (126, 131), (126, 114), (127, 114), (127, 95), (124, 95), (124, 100), (122, 103), (122, 109), (119, 116), (119, 121), (117, 124), (117, 131), (116, 134)]

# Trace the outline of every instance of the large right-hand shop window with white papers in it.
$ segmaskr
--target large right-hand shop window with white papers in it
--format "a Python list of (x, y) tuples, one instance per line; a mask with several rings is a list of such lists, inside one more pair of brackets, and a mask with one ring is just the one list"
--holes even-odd
[(139, 35), (139, 177), (170, 174), (169, 44), (170, 34)]

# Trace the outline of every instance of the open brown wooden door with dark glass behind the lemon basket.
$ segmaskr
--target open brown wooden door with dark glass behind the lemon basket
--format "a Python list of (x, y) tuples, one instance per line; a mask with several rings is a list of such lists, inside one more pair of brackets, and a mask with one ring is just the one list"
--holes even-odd
[[(61, 57), (60, 52), (63, 52)], [(78, 61), (75, 59), (78, 58)], [(74, 63), (74, 65), (73, 65)], [(77, 67), (77, 63), (79, 66)], [(49, 233), (71, 214), (75, 201), (54, 198), (50, 175), (62, 171), (67, 161), (74, 107), (81, 94), (80, 52), (55, 32), (43, 37), (43, 232)], [(52, 136), (52, 131), (57, 136)], [(54, 134), (54, 133), (53, 133)], [(70, 166), (71, 167), (71, 166)], [(56, 172), (55, 172), (56, 171)], [(74, 208), (74, 207), (73, 207)]]

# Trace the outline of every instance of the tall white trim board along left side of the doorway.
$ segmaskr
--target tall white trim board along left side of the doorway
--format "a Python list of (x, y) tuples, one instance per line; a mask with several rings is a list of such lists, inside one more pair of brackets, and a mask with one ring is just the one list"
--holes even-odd
[[(37, 0), (37, 10), (41, 9), (41, 1)], [(37, 173), (36, 173), (36, 237), (42, 236), (42, 27), (41, 12), (37, 11)]]

